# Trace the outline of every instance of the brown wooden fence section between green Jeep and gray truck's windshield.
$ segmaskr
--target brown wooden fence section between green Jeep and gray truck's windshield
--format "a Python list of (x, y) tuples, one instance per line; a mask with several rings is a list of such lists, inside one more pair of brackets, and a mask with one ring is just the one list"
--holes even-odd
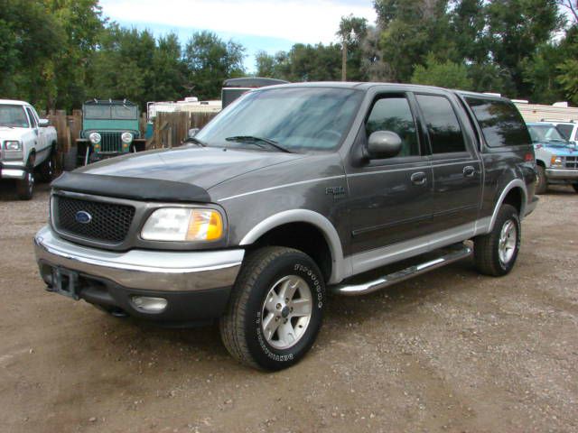
[(202, 128), (215, 113), (157, 113), (154, 136), (147, 149), (180, 146), (192, 128)]

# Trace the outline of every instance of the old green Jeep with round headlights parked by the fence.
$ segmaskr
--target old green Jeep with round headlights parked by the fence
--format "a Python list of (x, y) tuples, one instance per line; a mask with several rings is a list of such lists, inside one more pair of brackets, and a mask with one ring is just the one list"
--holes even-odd
[(105, 160), (128, 152), (144, 151), (140, 111), (125, 100), (92, 99), (82, 105), (82, 131), (65, 157), (65, 169)]

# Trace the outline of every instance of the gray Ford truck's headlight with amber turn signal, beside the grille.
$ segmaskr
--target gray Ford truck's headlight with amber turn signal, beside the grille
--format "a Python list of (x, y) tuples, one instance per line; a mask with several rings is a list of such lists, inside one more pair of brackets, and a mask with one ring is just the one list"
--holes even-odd
[(217, 241), (222, 235), (219, 211), (187, 207), (155, 210), (141, 232), (141, 237), (148, 241)]

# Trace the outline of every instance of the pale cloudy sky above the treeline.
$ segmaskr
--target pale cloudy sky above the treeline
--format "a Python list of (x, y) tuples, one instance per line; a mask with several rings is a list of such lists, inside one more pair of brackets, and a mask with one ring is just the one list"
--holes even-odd
[(274, 54), (294, 43), (336, 42), (341, 16), (373, 24), (372, 0), (100, 0), (111, 21), (155, 36), (175, 32), (184, 45), (192, 33), (210, 30), (247, 48), (245, 67), (255, 71), (256, 51)]

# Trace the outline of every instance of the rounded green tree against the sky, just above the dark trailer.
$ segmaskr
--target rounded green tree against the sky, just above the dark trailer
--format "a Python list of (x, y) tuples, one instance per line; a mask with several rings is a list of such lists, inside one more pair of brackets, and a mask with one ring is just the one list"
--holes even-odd
[(196, 32), (187, 43), (184, 61), (189, 69), (190, 86), (202, 99), (216, 98), (224, 79), (245, 74), (245, 47), (222, 41), (213, 32)]

